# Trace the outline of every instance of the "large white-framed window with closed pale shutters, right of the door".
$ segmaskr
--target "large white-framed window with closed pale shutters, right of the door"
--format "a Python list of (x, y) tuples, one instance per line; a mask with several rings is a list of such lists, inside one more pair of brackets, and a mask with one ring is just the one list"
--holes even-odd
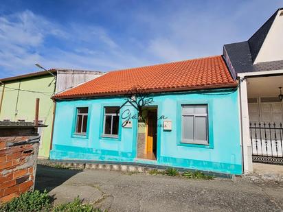
[(182, 105), (181, 143), (208, 145), (207, 105)]

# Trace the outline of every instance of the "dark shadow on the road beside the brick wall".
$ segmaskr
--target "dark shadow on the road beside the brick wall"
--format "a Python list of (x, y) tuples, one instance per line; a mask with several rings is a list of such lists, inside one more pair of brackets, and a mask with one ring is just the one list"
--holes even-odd
[(72, 176), (82, 172), (78, 169), (58, 169), (46, 165), (37, 165), (35, 189), (52, 191)]

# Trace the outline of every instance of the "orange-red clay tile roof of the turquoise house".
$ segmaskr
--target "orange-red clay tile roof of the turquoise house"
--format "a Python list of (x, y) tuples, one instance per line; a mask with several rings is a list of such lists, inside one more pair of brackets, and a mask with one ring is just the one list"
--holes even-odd
[(123, 95), (135, 87), (148, 93), (237, 86), (222, 56), (110, 71), (54, 98)]

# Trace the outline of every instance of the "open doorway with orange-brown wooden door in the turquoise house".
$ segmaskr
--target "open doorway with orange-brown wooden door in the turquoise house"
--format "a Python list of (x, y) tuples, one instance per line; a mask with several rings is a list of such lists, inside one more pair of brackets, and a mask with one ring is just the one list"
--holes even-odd
[(156, 150), (157, 141), (157, 112), (148, 112), (148, 134), (147, 134), (147, 146), (146, 152), (154, 152)]

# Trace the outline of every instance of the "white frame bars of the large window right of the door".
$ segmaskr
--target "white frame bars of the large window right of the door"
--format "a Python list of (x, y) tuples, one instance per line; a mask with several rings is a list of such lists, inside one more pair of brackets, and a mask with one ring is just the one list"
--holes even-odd
[[(184, 113), (183, 106), (206, 106), (206, 113)], [(183, 117), (193, 117), (193, 139), (184, 139), (183, 138)], [(205, 127), (206, 127), (206, 141), (196, 140), (196, 117), (205, 117)], [(208, 139), (208, 105), (207, 104), (182, 104), (181, 105), (181, 143), (188, 143), (188, 144), (201, 144), (201, 145), (209, 145)]]

